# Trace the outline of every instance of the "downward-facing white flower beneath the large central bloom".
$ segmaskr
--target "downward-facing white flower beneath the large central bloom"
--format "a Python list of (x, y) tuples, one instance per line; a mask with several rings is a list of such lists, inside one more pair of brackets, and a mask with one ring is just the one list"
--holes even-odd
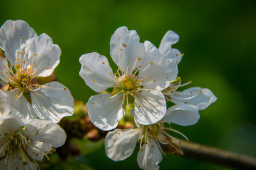
[(157, 164), (161, 162), (162, 153), (164, 153), (161, 145), (168, 146), (170, 153), (183, 154), (181, 148), (173, 142), (179, 143), (179, 140), (168, 134), (168, 131), (178, 133), (186, 138), (181, 132), (171, 127), (164, 127), (163, 123), (186, 126), (196, 124), (199, 118), (198, 110), (193, 106), (177, 104), (169, 108), (163, 120), (157, 124), (139, 125), (138, 129), (115, 129), (113, 132), (108, 132), (105, 138), (106, 155), (115, 161), (124, 160), (134, 152), (139, 140), (140, 152), (137, 162), (140, 168), (159, 169)]

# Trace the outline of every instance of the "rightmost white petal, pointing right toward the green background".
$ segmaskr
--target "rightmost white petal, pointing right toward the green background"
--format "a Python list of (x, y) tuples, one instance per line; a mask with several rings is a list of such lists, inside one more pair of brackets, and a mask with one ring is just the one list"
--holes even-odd
[(204, 110), (217, 99), (211, 90), (200, 87), (191, 87), (170, 97), (175, 103), (186, 102), (189, 105), (195, 106), (198, 110)]

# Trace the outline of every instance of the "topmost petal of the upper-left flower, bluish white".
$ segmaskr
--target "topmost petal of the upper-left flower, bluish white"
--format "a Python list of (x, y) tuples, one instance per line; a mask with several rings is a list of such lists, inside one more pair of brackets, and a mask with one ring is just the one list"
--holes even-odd
[(16, 50), (20, 48), (20, 38), (23, 38), (22, 43), (26, 43), (35, 36), (36, 32), (24, 20), (7, 20), (0, 28), (0, 48), (4, 50), (6, 58), (14, 65)]

